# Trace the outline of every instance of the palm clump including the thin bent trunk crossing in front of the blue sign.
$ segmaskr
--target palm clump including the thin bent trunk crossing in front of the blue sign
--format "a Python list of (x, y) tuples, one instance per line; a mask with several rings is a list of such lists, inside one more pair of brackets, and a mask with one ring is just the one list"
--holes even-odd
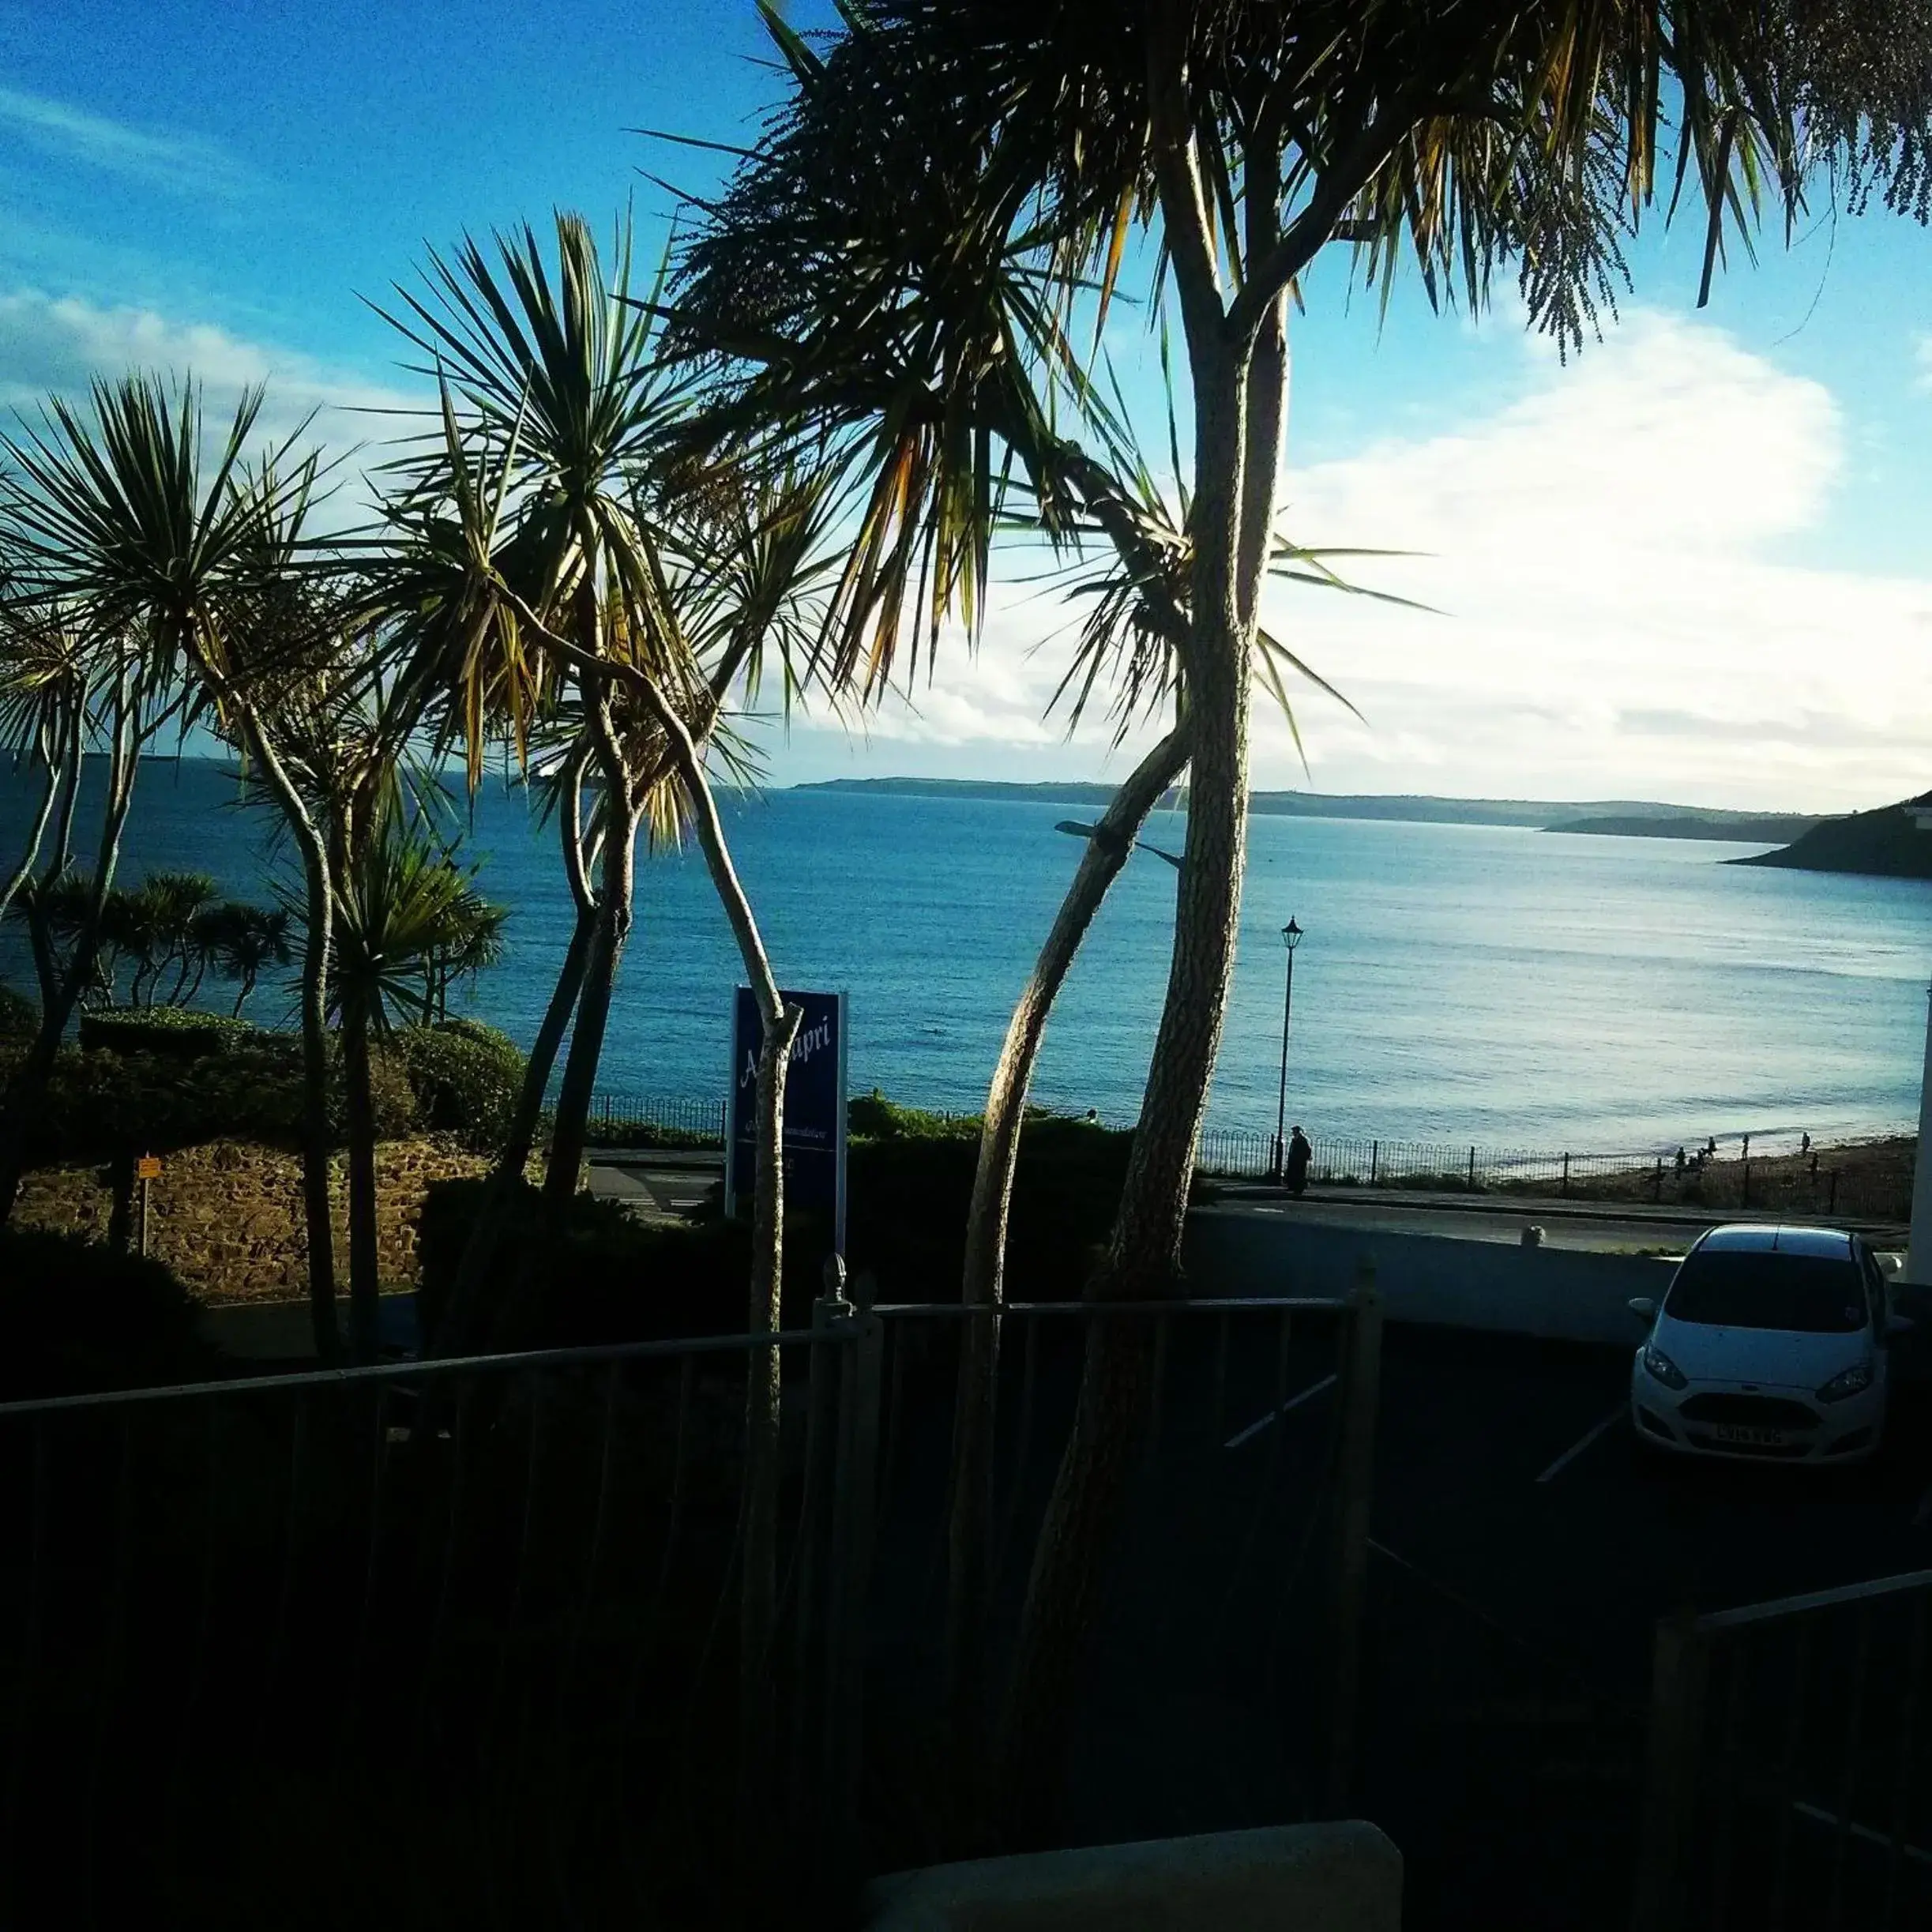
[[(782, 668), (786, 699), (796, 690), (792, 649), (817, 622), (811, 601), (825, 572), (833, 477), (810, 456), (763, 466), (742, 452), (697, 446), (696, 384), (657, 354), (655, 292), (651, 299), (630, 294), (626, 230), (609, 276), (589, 230), (568, 214), (556, 218), (554, 282), (527, 228), (502, 240), (497, 257), (493, 265), (475, 243), (454, 263), (433, 257), (425, 294), (404, 296), (408, 313), (398, 327), (427, 357), (425, 373), (439, 379), (442, 433), (413, 466), (394, 522), (408, 527), (413, 520), (423, 529), (433, 568), (448, 572), (460, 562), (448, 609), (473, 639), (450, 680), (464, 719), (479, 717), (485, 694), (495, 692), (522, 734), (524, 721), (547, 701), (582, 748), (566, 767), (564, 858), (589, 937), (551, 1134), (545, 1231), (560, 1229), (578, 1186), (597, 1061), (634, 918), (639, 829), (657, 842), (678, 837), (688, 821), (763, 1018), (748, 1321), (753, 1333), (773, 1331), (784, 1238), (784, 1072), (800, 1014), (779, 993), (726, 850), (705, 759), (742, 769), (726, 709), (740, 692), (757, 690), (767, 653)], [(487, 477), (495, 481), (485, 487)], [(400, 582), (410, 582), (408, 566)], [(599, 879), (589, 896), (587, 881), (576, 877), (585, 773), (597, 781), (599, 821)], [(566, 958), (553, 1018), (578, 970), (578, 960)], [(537, 1059), (531, 1082), (541, 1078)], [(518, 1151), (512, 1138), (506, 1153)], [(460, 1345), (473, 1320), (516, 1179), (506, 1159), (493, 1208), (471, 1235), (439, 1347)], [(537, 1265), (531, 1250), (529, 1267)], [(746, 1387), (740, 1567), (748, 1774), (765, 1762), (771, 1723), (779, 1378), (779, 1350), (761, 1350)], [(748, 1785), (746, 1816), (755, 1810)]]

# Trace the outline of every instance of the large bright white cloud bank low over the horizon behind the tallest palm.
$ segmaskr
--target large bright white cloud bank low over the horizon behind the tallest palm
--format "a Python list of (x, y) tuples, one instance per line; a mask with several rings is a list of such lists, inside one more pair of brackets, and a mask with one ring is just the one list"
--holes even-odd
[[(1271, 628), (1370, 721), (1298, 701), (1312, 784), (1793, 810), (1924, 790), (1932, 582), (1789, 560), (1843, 440), (1820, 384), (1638, 311), (1569, 367), (1526, 344), (1519, 398), (1484, 421), (1291, 471), (1296, 541), (1424, 553), (1347, 570), (1443, 612), (1271, 593)], [(1018, 738), (1065, 665), (1065, 645), (1026, 657), (1049, 622), (1003, 605), (978, 667), (943, 655), (923, 726), (873, 736)], [(1097, 765), (1105, 732), (1082, 744)], [(1310, 782), (1262, 696), (1254, 775)]]

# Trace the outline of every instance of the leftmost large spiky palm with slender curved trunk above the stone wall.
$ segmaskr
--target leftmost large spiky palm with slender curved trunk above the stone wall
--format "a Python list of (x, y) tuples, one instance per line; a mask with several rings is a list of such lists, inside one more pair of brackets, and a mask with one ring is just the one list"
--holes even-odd
[[(309, 1310), (317, 1352), (338, 1350), (334, 1244), (328, 1213), (328, 1026), (325, 1010), (328, 852), (276, 748), (274, 723), (292, 692), (311, 682), (338, 639), (311, 622), (294, 585), (311, 554), (301, 518), (315, 483), (313, 464), (292, 462), (296, 431), (259, 466), (243, 468), (263, 392), (249, 388), (226, 433), (203, 439), (201, 390), (193, 381), (170, 390), (158, 377), (95, 383), (81, 413), (54, 398), (39, 429), (0, 437), (14, 473), (6, 524), (29, 558), (41, 609), (71, 612), (100, 649), (112, 653), (114, 744), (129, 752), (110, 761), (104, 862), (97, 891), (112, 883), (112, 850), (126, 819), (133, 750), (155, 728), (143, 723), (156, 696), (170, 694), (185, 715), (207, 719), (236, 742), (288, 823), (303, 866), (309, 956), (303, 962), (303, 1213), (307, 1221)], [(116, 777), (124, 773), (124, 777)], [(120, 786), (120, 790), (116, 788)], [(95, 916), (99, 920), (99, 912)], [(79, 954), (93, 966), (93, 937)], [(75, 989), (77, 991), (77, 989)], [(71, 1010), (44, 1005), (46, 1068)], [(21, 1119), (44, 1090), (44, 1070), (29, 1057), (15, 1076), (8, 1121)], [(21, 1086), (21, 1082), (27, 1082)], [(0, 1146), (0, 1217), (17, 1188), (21, 1128)]]

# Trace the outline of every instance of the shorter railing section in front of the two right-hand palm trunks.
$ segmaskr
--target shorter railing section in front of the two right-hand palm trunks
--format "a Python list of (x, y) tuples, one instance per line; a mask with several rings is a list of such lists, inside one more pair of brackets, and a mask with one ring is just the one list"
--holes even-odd
[[(1372, 1271), (1349, 1300), (893, 1304), (879, 1316), (873, 1706), (914, 1727), (945, 1723), (939, 1692), (958, 1662), (945, 1656), (945, 1499), (968, 1333), (997, 1327), (985, 1592), (972, 1631), (993, 1687), (1012, 1660), (1090, 1350), (1128, 1347), (1134, 1447), (1119, 1553), (1090, 1631), (1090, 1654), (1107, 1665), (1092, 1671), (1082, 1721), (1130, 1712), (1165, 1791), (1238, 1791), (1248, 1818), (1345, 1814), (1381, 1350)], [(997, 1694), (985, 1702), (991, 1729)], [(1238, 1712), (1238, 1735), (1206, 1723), (1209, 1708)]]

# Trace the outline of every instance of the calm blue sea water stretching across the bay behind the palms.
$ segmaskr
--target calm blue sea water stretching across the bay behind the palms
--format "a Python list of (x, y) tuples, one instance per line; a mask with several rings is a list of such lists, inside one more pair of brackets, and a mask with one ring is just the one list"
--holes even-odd
[[(773, 792), (726, 831), (781, 980), (844, 987), (852, 1086), (978, 1107), (1078, 842), (1065, 806)], [(0, 775), (0, 856), (25, 823)], [(1179, 848), (1182, 821), (1155, 819)], [(485, 788), (471, 856), (510, 904), (510, 956), (469, 997), (535, 1032), (568, 935), (554, 838)], [(1262, 817), (1211, 1101), (1273, 1128), (1283, 947), (1294, 964), (1291, 1117), (1316, 1134), (1592, 1151), (1752, 1132), (1847, 1136), (1917, 1121), (1932, 885), (1725, 866), (1756, 850), (1476, 825)], [(193, 761), (141, 777), (122, 877), (195, 866), (267, 896), (263, 819)], [(1066, 985), (1036, 1084), (1132, 1119), (1173, 939), (1175, 873), (1138, 856)], [(15, 935), (0, 976), (25, 981)], [(639, 867), (601, 1084), (717, 1097), (736, 952), (696, 846)], [(278, 1014), (265, 989), (255, 1010)]]

